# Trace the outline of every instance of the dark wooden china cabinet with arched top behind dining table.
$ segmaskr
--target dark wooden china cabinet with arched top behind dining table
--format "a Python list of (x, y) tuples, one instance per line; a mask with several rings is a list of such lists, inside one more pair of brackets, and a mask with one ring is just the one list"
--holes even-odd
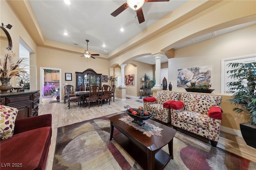
[(76, 91), (80, 85), (85, 85), (89, 88), (90, 85), (98, 85), (101, 88), (101, 75), (96, 73), (93, 69), (86, 69), (83, 72), (76, 72)]

